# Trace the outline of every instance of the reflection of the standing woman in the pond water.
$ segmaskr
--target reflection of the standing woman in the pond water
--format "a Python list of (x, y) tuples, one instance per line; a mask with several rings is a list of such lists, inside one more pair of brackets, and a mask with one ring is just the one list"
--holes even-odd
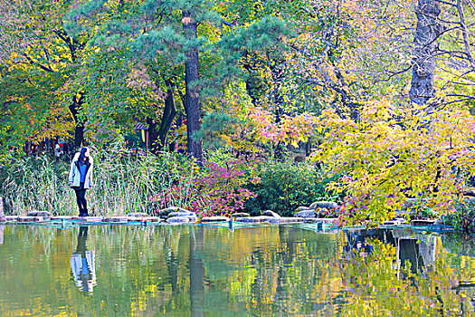
[(94, 268), (94, 252), (86, 250), (88, 227), (80, 226), (78, 247), (71, 255), (71, 272), (76, 286), (81, 292), (92, 294), (96, 283), (96, 270)]

